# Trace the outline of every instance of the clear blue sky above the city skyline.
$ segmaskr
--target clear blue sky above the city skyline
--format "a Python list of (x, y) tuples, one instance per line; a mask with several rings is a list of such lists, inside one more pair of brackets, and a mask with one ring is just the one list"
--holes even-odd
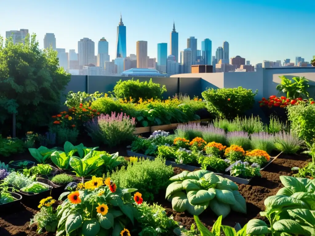
[[(255, 3), (254, 3), (255, 2)], [(54, 33), (57, 48), (75, 49), (88, 37), (105, 37), (115, 59), (120, 18), (127, 27), (127, 55), (136, 53), (136, 41), (148, 41), (148, 56), (157, 56), (157, 43), (167, 42), (175, 20), (179, 51), (187, 38), (212, 41), (212, 55), (227, 41), (230, 57), (240, 55), (251, 64), (315, 55), (315, 2), (313, 0), (0, 0), (0, 35), (29, 29), (43, 47), (45, 33)]]

